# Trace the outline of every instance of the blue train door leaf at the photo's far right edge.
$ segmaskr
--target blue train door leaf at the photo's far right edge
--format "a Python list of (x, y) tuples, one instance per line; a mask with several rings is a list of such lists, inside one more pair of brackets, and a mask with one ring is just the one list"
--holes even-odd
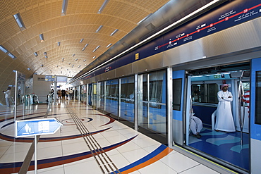
[(261, 58), (255, 58), (251, 63), (250, 87), (250, 159), (251, 173), (260, 173), (261, 156)]

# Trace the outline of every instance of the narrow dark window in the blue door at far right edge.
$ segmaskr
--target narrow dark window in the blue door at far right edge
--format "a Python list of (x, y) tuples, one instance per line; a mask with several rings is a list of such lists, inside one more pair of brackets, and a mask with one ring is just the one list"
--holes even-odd
[(255, 81), (255, 124), (261, 125), (261, 71), (256, 73)]

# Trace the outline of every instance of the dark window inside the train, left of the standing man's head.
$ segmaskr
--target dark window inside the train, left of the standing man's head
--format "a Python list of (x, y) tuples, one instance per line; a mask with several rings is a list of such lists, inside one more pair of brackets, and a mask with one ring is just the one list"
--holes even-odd
[(219, 87), (216, 83), (191, 86), (192, 100), (194, 102), (217, 104), (217, 92), (219, 92)]

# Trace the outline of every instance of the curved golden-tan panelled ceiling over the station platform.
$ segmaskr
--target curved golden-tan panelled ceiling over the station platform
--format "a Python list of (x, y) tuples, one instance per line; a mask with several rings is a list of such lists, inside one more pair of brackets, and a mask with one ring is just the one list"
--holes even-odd
[(34, 73), (73, 77), (168, 1), (110, 0), (98, 13), (104, 0), (68, 0), (63, 14), (63, 0), (2, 0), (0, 45), (8, 52), (0, 51), (1, 90), (14, 85), (13, 70), (26, 78)]

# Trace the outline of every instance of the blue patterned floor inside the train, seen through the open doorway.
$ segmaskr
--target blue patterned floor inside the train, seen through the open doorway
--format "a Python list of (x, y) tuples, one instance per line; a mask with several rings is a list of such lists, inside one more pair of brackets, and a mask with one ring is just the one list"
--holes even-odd
[(241, 132), (216, 132), (203, 128), (197, 139), (190, 136), (189, 146), (210, 154), (236, 166), (249, 170), (249, 137), (243, 133), (241, 146)]

